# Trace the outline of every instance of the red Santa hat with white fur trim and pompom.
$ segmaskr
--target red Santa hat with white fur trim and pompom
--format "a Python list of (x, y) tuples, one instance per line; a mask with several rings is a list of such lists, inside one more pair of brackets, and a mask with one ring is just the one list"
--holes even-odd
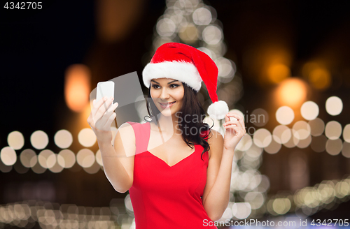
[(186, 83), (200, 91), (202, 81), (213, 102), (207, 110), (210, 117), (223, 119), (228, 113), (228, 104), (218, 101), (216, 87), (218, 67), (204, 52), (182, 43), (165, 43), (158, 47), (142, 72), (144, 84), (150, 87), (152, 79), (171, 78)]

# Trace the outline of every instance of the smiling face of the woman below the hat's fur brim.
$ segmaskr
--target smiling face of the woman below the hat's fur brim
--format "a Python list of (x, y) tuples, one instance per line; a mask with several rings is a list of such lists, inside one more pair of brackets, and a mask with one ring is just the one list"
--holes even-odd
[(179, 80), (158, 78), (151, 80), (151, 97), (165, 116), (179, 112), (183, 103), (183, 84)]

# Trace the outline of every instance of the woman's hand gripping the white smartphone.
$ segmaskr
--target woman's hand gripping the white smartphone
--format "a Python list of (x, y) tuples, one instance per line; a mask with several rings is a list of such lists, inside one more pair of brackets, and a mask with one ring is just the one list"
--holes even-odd
[[(114, 110), (118, 107), (118, 103), (113, 103), (114, 98), (102, 98), (99, 101), (93, 101), (93, 108), (87, 123), (94, 131), (99, 143), (112, 142), (113, 135), (111, 131), (111, 123), (116, 118)], [(112, 104), (112, 105), (111, 105)], [(111, 107), (109, 108), (109, 106)], [(106, 108), (109, 108), (106, 110)]]

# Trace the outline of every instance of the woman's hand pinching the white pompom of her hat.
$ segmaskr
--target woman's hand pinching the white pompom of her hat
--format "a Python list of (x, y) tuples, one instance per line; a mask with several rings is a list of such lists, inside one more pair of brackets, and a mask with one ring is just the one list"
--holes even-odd
[[(231, 121), (230, 117), (237, 119), (237, 121)], [(223, 139), (223, 147), (234, 151), (238, 142), (246, 134), (244, 119), (238, 114), (228, 112), (228, 114), (225, 114), (225, 123), (223, 126), (226, 130)]]

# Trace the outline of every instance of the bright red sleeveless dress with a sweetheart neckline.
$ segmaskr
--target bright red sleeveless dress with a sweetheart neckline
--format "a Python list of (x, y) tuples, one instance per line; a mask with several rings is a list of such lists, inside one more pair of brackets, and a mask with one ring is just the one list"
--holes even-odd
[(207, 183), (208, 152), (202, 161), (204, 148), (195, 145), (193, 154), (169, 166), (147, 151), (151, 124), (128, 123), (136, 137), (134, 182), (129, 190), (136, 229), (217, 229), (201, 198)]

